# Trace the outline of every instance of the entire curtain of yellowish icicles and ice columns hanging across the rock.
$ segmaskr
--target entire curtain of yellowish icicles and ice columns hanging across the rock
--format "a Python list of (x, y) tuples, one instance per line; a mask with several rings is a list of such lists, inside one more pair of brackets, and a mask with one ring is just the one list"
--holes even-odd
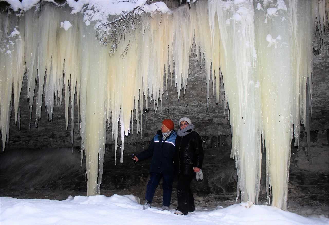
[[(154, 13), (152, 19), (142, 15), (144, 23), (134, 27), (132, 38), (121, 40), (113, 56), (109, 54), (111, 46), (101, 45), (95, 38), (94, 27), (104, 17), (117, 17), (106, 17), (104, 7), (92, 2), (92, 7), (83, 8), (81, 1), (67, 0), (70, 7), (75, 7), (72, 13), (77, 13), (70, 14), (68, 6), (44, 4), (28, 10), (31, 7), (12, 1), (14, 10), (27, 11), (19, 16), (11, 11), (0, 14), (3, 149), (8, 140), (11, 104), (19, 124), (23, 75), (26, 71), (32, 116), (38, 73), (36, 125), (43, 94), (51, 120), (55, 102), (62, 101), (64, 86), (66, 127), (71, 98), (72, 138), (75, 98), (78, 104), (81, 159), (84, 152), (87, 159), (87, 195), (98, 194), (106, 128), (112, 124), (116, 155), (120, 123), (122, 162), (124, 137), (130, 132), (134, 109), (141, 132), (144, 101), (146, 109), (148, 101), (153, 102), (155, 110), (162, 105), (167, 77), (172, 77), (173, 71), (178, 97), (183, 87), (184, 98), (195, 35), (198, 62), (201, 66), (205, 63), (207, 102), (211, 74), (218, 102), (222, 73), (232, 128), (231, 157), (238, 168), (237, 199), (240, 196), (243, 202), (258, 201), (263, 143), (268, 203), (272, 195), (272, 205), (286, 209), (291, 139), (294, 137), (297, 145), (300, 122), (307, 124), (306, 87), (312, 88), (313, 26), (317, 16), (324, 32), (328, 12), (325, 2), (199, 0), (191, 4), (191, 9), (182, 6), (173, 11), (166, 9), (166, 13), (159, 13), (160, 8), (153, 5), (149, 7)], [(136, 4), (142, 6), (141, 2)], [(127, 55), (122, 57), (127, 46)]]

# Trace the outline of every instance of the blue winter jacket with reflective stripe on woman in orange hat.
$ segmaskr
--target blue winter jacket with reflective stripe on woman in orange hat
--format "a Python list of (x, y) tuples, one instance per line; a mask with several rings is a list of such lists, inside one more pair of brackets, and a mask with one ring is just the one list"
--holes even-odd
[(148, 148), (136, 155), (138, 160), (145, 160), (153, 156), (150, 173), (173, 173), (176, 137), (177, 133), (173, 130), (164, 140), (161, 130), (158, 130)]

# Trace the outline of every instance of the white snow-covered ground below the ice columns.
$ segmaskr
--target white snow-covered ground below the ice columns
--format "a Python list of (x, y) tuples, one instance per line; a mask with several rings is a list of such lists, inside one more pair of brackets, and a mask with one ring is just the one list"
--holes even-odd
[(235, 204), (216, 210), (196, 210), (189, 215), (175, 215), (174, 209), (163, 211), (152, 207), (142, 209), (134, 195), (111, 197), (69, 196), (66, 200), (18, 199), (0, 197), (1, 225), (46, 224), (329, 224), (324, 216), (304, 217), (276, 207)]

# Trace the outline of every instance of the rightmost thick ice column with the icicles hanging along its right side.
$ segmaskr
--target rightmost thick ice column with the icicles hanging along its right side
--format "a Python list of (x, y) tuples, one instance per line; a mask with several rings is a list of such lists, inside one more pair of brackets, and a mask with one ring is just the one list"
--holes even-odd
[(269, 200), (271, 188), (272, 205), (282, 209), (287, 207), (292, 124), (297, 145), (300, 121), (305, 118), (306, 82), (312, 71), (313, 26), (309, 19), (312, 4), (294, 0), (286, 3), (264, 1), (256, 11), (267, 197)]

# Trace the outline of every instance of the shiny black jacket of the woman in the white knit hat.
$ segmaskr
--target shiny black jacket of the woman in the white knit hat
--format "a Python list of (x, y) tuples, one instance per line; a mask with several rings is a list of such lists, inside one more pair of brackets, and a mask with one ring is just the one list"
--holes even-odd
[[(189, 132), (189, 131), (187, 131)], [(185, 136), (176, 138), (175, 166), (179, 173), (193, 174), (193, 167), (202, 167), (203, 148), (202, 140), (198, 133), (192, 131)]]

